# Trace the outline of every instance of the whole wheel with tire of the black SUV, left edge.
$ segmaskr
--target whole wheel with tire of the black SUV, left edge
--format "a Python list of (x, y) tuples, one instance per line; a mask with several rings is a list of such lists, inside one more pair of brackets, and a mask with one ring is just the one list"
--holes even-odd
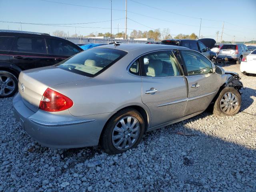
[(13, 96), (18, 91), (18, 79), (8, 71), (0, 71), (0, 98)]

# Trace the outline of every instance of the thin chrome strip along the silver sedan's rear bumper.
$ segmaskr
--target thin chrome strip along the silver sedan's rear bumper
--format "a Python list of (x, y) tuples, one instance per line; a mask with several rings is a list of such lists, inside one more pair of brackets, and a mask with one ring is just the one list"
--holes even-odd
[(65, 126), (65, 125), (76, 125), (82, 123), (90, 123), (96, 121), (95, 119), (88, 120), (77, 120), (77, 121), (63, 121), (63, 122), (45, 122), (36, 119), (30, 119), (31, 122), (40, 126)]

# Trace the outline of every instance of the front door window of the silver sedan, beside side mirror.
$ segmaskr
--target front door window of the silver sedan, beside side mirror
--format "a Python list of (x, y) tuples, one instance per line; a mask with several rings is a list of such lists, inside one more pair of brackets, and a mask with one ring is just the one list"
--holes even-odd
[(212, 73), (212, 63), (202, 54), (190, 50), (181, 50), (181, 54), (189, 76)]

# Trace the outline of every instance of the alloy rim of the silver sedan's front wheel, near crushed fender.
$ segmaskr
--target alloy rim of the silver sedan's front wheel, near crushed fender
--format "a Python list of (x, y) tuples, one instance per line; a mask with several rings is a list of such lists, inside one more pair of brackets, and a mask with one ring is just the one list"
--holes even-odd
[(232, 92), (224, 94), (220, 101), (220, 109), (226, 114), (233, 113), (238, 108), (238, 98)]

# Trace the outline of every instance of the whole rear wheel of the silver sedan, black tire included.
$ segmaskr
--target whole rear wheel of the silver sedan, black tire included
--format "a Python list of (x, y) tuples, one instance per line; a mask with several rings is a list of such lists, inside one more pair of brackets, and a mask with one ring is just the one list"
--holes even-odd
[[(124, 126), (120, 122), (120, 121), (124, 120), (124, 123), (126, 125), (128, 125), (128, 118), (131, 118), (131, 120), (130, 120), (131, 125), (134, 122), (138, 121), (134, 125), (132, 131), (130, 131), (129, 129), (127, 131), (125, 131), (123, 129)], [(120, 126), (121, 126), (121, 128), (120, 128)], [(116, 127), (118, 127), (119, 130), (116, 129)], [(138, 131), (135, 132), (134, 130), (136, 130), (136, 127), (138, 127)], [(115, 130), (114, 130), (114, 128), (115, 128)], [(118, 131), (116, 131), (116, 130), (118, 130)], [(124, 130), (124, 131), (122, 132), (121, 130), (122, 131)], [(114, 114), (108, 120), (108, 122), (106, 123), (104, 130), (102, 132), (102, 137), (100, 139), (100, 145), (102, 146), (104, 151), (107, 152), (108, 154), (122, 153), (131, 148), (135, 148), (136, 146), (138, 146), (138, 144), (142, 140), (144, 131), (145, 131), (145, 124), (144, 124), (144, 120), (143, 120), (141, 114), (133, 108), (126, 108), (126, 109), (120, 110), (119, 112)], [(130, 136), (130, 134), (128, 132), (132, 132), (131, 135), (133, 135), (133, 136), (135, 135), (135, 136), (137, 136), (137, 138), (135, 139), (133, 136)], [(116, 140), (114, 140), (113, 138), (116, 138)], [(122, 141), (122, 139), (123, 139), (123, 141)], [(118, 144), (119, 142), (120, 142), (120, 144)], [(124, 146), (124, 147), (121, 148), (122, 146)]]

